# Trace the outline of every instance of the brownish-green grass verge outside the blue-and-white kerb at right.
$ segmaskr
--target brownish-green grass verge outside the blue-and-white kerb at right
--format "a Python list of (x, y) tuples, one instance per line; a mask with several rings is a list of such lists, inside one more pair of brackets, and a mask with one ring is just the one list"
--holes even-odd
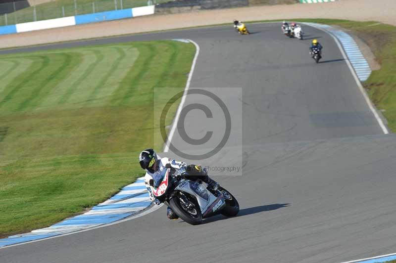
[(396, 132), (396, 27), (378, 22), (356, 22), (330, 19), (297, 19), (297, 21), (341, 26), (362, 39), (381, 65), (363, 83), (377, 107), (383, 111), (392, 132)]

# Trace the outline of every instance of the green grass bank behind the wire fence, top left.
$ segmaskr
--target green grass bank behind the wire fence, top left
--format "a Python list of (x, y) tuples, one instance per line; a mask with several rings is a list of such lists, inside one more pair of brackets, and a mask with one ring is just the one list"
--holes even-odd
[[(155, 0), (157, 3), (167, 2), (169, 0)], [(77, 9), (74, 7), (73, 0), (57, 0), (36, 5), (37, 20), (46, 20), (52, 18), (63, 17), (62, 7), (64, 9), (64, 16), (73, 16), (81, 14), (93, 13), (95, 3), (95, 12), (103, 12), (115, 10), (114, 0), (77, 0)], [(139, 6), (146, 6), (148, 0), (122, 0), (122, 8), (132, 8)], [(12, 5), (12, 3), (9, 3)], [(117, 9), (121, 9), (121, 0), (117, 0)], [(34, 21), (34, 7), (30, 6), (13, 13), (7, 14), (7, 24), (17, 24)], [(0, 16), (0, 26), (5, 25), (5, 16)]]

